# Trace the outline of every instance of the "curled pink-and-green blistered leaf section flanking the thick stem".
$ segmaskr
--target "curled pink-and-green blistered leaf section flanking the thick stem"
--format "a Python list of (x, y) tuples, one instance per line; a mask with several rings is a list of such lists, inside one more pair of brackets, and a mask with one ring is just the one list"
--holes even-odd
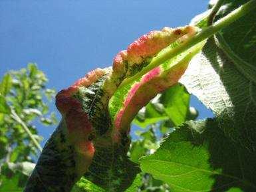
[[(168, 31), (168, 33), (166, 33), (165, 30)], [(178, 54), (178, 56), (167, 60), (160, 66), (152, 68), (145, 74), (143, 72), (147, 68), (150, 68), (152, 63), (154, 63), (154, 60), (158, 60), (158, 56), (161, 56), (166, 50), (170, 50), (170, 48), (175, 49), (175, 47), (180, 44), (178, 41), (176, 41), (179, 38), (175, 35), (178, 34), (176, 33), (176, 31), (178, 31), (180, 34), (186, 34), (187, 39), (189, 39), (195, 34), (196, 30), (197, 29), (193, 27), (183, 27), (180, 29), (174, 29), (174, 31), (170, 29), (163, 29), (162, 31), (154, 32), (157, 34), (156, 37), (154, 37), (153, 32), (149, 33), (148, 35), (146, 35), (145, 37), (141, 37), (141, 39), (138, 39), (137, 41), (135, 41), (135, 43), (131, 44), (128, 47), (132, 47), (134, 48), (134, 50), (129, 51), (128, 49), (127, 54), (126, 56), (124, 56), (124, 60), (122, 62), (124, 62), (124, 64), (128, 62), (128, 65), (130, 63), (132, 64), (130, 64), (131, 66), (128, 66), (128, 72), (126, 72), (126, 79), (124, 79), (122, 81), (122, 84), (118, 86), (118, 89), (114, 92), (114, 95), (112, 96), (112, 98), (110, 98), (110, 102), (108, 104), (110, 118), (112, 122), (114, 122), (114, 126), (116, 129), (126, 130), (130, 125), (130, 122), (134, 119), (134, 116), (136, 116), (136, 114), (140, 110), (140, 108), (145, 106), (152, 98), (154, 98), (154, 96), (156, 96), (156, 94), (166, 90), (167, 88), (173, 86), (178, 82), (178, 79), (180, 78), (180, 76), (182, 76), (184, 70), (186, 70), (188, 62), (191, 60), (193, 55), (195, 55), (201, 49), (203, 43), (199, 43), (198, 45), (189, 48), (181, 54)], [(189, 33), (188, 31), (190, 31), (191, 33)], [(160, 33), (161, 35), (158, 35), (158, 33)], [(153, 34), (152, 37), (150, 36), (151, 34)], [(168, 41), (165, 41), (164, 38), (168, 39)], [(160, 51), (159, 49), (156, 49), (153, 45), (152, 48), (150, 48), (146, 43), (146, 45), (144, 45), (144, 41), (146, 43), (149, 42), (149, 45), (150, 43), (153, 43), (153, 45), (159, 44), (159, 46), (157, 47), (160, 47), (162, 46), (161, 44), (166, 43), (167, 45), (165, 46), (169, 45), (169, 47), (162, 47), (164, 49), (160, 49)], [(135, 50), (137, 51), (137, 49), (138, 53), (136, 53), (135, 56), (130, 53), (134, 53)], [(143, 50), (143, 52), (146, 52), (145, 54), (148, 54), (148, 52), (151, 52), (152, 50), (156, 50), (156, 56), (153, 55), (154, 57), (152, 58), (152, 55), (149, 54), (146, 58), (150, 58), (150, 60), (143, 60), (144, 57), (139, 55), (139, 50)], [(121, 56), (123, 54), (124, 53), (122, 53)], [(142, 60), (141, 63), (136, 62), (134, 64), (132, 60), (134, 57), (138, 57), (137, 59), (140, 61)], [(118, 60), (120, 59), (118, 58)], [(140, 69), (140, 65), (144, 66), (144, 68), (142, 68), (141, 71), (137, 72)], [(137, 73), (134, 74), (134, 76), (132, 77), (128, 76), (127, 74), (129, 74), (129, 70), (134, 70), (136, 66)]]

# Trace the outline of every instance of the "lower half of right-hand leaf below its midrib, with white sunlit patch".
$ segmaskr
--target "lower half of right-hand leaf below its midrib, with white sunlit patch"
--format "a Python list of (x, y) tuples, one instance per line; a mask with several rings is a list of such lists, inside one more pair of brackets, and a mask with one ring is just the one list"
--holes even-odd
[(234, 67), (213, 39), (192, 59), (180, 82), (213, 110), (227, 136), (256, 149), (256, 86)]

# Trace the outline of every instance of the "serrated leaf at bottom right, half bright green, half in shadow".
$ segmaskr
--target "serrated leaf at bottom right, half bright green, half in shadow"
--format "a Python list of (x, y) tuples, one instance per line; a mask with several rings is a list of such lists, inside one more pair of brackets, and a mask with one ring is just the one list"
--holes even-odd
[(170, 134), (160, 148), (140, 160), (142, 171), (172, 191), (255, 191), (255, 153), (235, 144), (216, 120), (190, 121)]

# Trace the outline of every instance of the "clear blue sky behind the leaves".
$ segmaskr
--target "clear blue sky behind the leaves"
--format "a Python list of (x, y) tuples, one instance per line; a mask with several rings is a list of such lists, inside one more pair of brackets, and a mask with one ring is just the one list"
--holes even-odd
[[(0, 76), (36, 62), (61, 90), (148, 31), (190, 23), (207, 0), (0, 0)], [(199, 118), (212, 116), (195, 98)], [(55, 110), (55, 107), (51, 107)], [(54, 128), (39, 127), (45, 138)]]

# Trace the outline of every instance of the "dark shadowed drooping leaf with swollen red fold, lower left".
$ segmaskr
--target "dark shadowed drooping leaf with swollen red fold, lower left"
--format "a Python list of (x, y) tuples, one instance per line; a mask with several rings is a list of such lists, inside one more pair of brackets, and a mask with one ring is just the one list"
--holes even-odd
[[(57, 108), (63, 120), (45, 145), (25, 191), (45, 191), (45, 186), (70, 191), (82, 176), (106, 191), (130, 187), (140, 169), (126, 155), (128, 136), (123, 134), (120, 142), (114, 142), (108, 131), (110, 118), (102, 99), (107, 94), (103, 86), (108, 75), (108, 70), (102, 70), (88, 86), (78, 80), (80, 86), (59, 92)], [(70, 90), (74, 90), (72, 96)]]

